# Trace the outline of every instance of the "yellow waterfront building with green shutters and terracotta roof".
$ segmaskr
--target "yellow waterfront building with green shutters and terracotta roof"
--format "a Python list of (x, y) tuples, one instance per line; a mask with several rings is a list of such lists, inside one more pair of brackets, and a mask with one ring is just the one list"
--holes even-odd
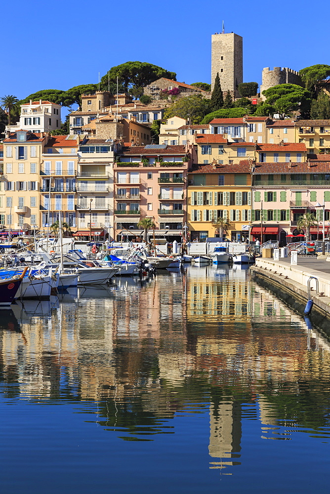
[(215, 223), (228, 221), (228, 237), (248, 237), (251, 221), (252, 161), (234, 165), (193, 165), (188, 172), (188, 221), (191, 240), (217, 235)]

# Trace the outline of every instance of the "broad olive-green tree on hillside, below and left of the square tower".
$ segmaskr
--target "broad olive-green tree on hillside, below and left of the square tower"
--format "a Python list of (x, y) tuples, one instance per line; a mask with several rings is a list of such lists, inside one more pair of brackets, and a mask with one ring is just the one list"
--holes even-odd
[(191, 124), (200, 124), (209, 112), (209, 103), (201, 94), (178, 98), (166, 108), (164, 119), (176, 116), (190, 121)]

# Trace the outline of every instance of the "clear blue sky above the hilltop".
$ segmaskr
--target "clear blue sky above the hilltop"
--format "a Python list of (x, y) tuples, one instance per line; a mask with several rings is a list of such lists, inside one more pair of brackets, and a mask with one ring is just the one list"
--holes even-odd
[(306, 0), (3, 1), (0, 97), (97, 82), (129, 60), (210, 82), (211, 34), (222, 20), (243, 36), (245, 82), (260, 83), (263, 67), (330, 63), (327, 12)]

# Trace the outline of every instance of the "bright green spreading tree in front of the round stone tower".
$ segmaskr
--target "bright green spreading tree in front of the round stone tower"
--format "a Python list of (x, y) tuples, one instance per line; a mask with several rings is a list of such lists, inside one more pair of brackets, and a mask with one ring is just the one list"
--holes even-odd
[(281, 120), (296, 110), (299, 110), (302, 116), (309, 114), (311, 93), (297, 84), (278, 84), (262, 91), (262, 94), (267, 98), (265, 103), (274, 108)]

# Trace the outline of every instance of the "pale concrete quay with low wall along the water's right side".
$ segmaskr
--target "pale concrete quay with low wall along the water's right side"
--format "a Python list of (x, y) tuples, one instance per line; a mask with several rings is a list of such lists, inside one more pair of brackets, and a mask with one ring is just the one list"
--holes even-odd
[(316, 281), (311, 280), (313, 311), (317, 310), (321, 319), (330, 317), (330, 262), (316, 257), (298, 257), (296, 265), (291, 265), (290, 261), (290, 257), (280, 260), (257, 258), (250, 270), (258, 283), (293, 304), (299, 312), (303, 312), (308, 300), (308, 279), (314, 276), (319, 287), (317, 293)]

